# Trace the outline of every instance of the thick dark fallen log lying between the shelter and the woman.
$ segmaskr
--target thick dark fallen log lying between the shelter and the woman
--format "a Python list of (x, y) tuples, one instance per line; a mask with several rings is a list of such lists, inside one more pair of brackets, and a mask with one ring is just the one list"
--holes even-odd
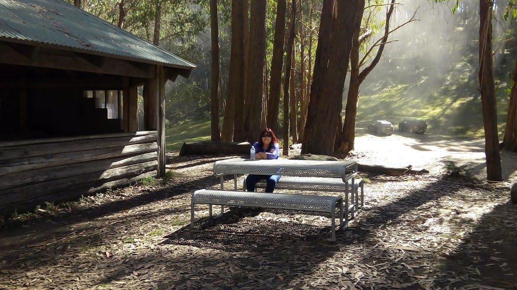
[[(181, 146), (179, 156), (201, 154), (250, 154), (249, 142), (202, 141), (185, 142)], [(249, 157), (248, 157), (249, 158)]]

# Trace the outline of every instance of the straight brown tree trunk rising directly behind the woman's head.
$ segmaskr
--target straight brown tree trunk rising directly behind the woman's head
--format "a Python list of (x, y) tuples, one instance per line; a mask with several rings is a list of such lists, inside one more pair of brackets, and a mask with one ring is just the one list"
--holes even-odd
[(282, 83), (282, 57), (284, 56), (285, 10), (285, 0), (278, 0), (275, 38), (273, 40), (273, 56), (271, 57), (271, 81), (267, 105), (267, 126), (270, 127), (273, 132), (277, 132), (278, 128), (280, 84)]

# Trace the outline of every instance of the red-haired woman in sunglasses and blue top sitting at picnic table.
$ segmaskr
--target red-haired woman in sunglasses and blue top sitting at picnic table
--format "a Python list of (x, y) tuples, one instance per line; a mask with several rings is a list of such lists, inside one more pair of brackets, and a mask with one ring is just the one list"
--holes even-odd
[[(278, 139), (270, 128), (262, 131), (259, 140), (253, 144), (253, 147), (255, 148), (255, 159), (278, 159)], [(265, 180), (267, 182), (266, 192), (273, 192), (279, 179), (280, 175), (250, 174), (246, 178), (246, 189), (250, 192), (255, 191), (255, 184)]]

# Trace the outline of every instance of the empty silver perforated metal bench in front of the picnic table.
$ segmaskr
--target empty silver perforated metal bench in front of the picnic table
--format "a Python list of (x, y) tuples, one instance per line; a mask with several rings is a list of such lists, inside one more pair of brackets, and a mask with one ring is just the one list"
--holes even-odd
[(250, 194), (246, 191), (196, 190), (192, 195), (191, 227), (194, 227), (195, 204), (267, 207), (330, 213), (332, 219), (332, 240), (336, 239), (336, 209), (338, 208), (340, 228), (344, 230), (346, 227), (343, 224), (343, 198), (341, 196), (282, 194), (278, 192), (254, 192)]

